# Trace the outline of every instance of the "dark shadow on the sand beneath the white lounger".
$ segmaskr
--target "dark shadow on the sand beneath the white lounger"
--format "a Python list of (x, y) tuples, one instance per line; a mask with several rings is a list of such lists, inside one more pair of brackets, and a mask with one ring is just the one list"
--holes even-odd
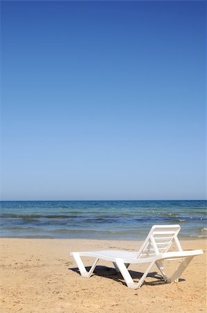
[[(90, 266), (85, 266), (85, 269), (86, 269), (86, 271), (89, 271)], [(78, 267), (68, 268), (68, 270), (74, 271), (75, 273), (80, 274)], [(142, 275), (143, 275), (143, 273), (141, 273), (141, 272), (131, 271), (131, 270), (129, 270), (129, 273), (135, 282), (138, 282), (138, 280), (140, 280), (140, 278), (142, 278)], [(92, 276), (94, 276), (94, 275), (99, 276), (99, 277), (109, 278), (110, 280), (114, 280), (115, 282), (122, 282), (122, 284), (126, 284), (126, 282), (124, 282), (124, 278), (122, 278), (122, 274), (117, 273), (115, 268), (112, 268), (112, 267), (97, 266), (95, 268)], [(147, 277), (155, 278), (156, 280), (153, 280), (152, 282), (145, 282), (144, 281), (143, 284), (145, 284), (145, 285), (156, 286), (156, 285), (160, 285), (160, 284), (166, 284), (166, 282), (163, 280), (163, 277), (161, 275), (159, 275), (158, 272), (148, 273)], [(88, 279), (90, 279), (90, 278), (88, 278)], [(183, 278), (179, 278), (179, 282), (183, 282), (183, 281), (185, 281)]]

